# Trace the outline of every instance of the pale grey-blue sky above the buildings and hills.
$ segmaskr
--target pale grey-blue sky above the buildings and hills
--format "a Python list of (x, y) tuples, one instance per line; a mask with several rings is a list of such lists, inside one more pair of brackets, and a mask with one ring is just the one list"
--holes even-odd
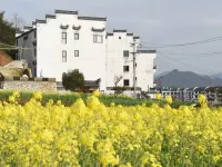
[[(222, 37), (222, 0), (0, 0), (7, 19), (19, 13), (27, 23), (53, 14), (54, 9), (107, 17), (108, 29), (140, 36), (144, 49), (158, 48), (158, 73), (172, 69), (222, 72), (222, 40), (186, 47), (160, 48)], [(222, 38), (221, 38), (222, 39)], [(180, 53), (180, 55), (172, 55)], [(194, 53), (194, 55), (193, 55)]]

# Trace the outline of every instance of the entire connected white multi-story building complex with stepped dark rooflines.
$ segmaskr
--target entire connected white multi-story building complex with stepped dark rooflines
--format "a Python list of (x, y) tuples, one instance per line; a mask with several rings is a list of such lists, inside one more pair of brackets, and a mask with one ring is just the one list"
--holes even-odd
[(139, 50), (140, 38), (127, 30), (107, 33), (107, 18), (81, 17), (77, 11), (56, 10), (46, 20), (36, 20), (17, 33), (18, 59), (26, 59), (34, 77), (62, 80), (62, 73), (79, 69), (85, 80), (101, 79), (100, 90), (119, 86), (133, 87), (131, 43), (135, 42), (137, 87), (153, 87), (155, 50)]

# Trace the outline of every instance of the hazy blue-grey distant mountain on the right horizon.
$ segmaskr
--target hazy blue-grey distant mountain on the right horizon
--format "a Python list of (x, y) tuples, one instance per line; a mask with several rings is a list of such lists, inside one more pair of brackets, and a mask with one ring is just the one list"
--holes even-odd
[[(159, 77), (161, 81), (158, 80)], [(191, 71), (172, 70), (170, 72), (163, 72), (155, 79), (157, 86), (160, 87), (180, 87), (180, 88), (194, 88), (194, 87), (208, 87), (208, 86), (222, 86), (222, 79), (210, 78), (209, 76), (201, 76)]]

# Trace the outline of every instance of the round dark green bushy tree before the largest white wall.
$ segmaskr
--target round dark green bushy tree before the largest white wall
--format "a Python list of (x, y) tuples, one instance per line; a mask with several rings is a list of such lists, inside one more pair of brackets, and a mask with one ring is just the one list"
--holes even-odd
[(62, 75), (62, 85), (65, 90), (75, 91), (84, 86), (84, 76), (79, 70)]

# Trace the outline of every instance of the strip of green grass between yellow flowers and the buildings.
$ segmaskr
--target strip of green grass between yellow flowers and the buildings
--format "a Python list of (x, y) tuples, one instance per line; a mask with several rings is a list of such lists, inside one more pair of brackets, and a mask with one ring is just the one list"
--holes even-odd
[[(12, 95), (12, 90), (2, 90), (0, 91), (0, 101), (8, 101), (9, 96)], [(23, 105), (27, 101), (29, 101), (29, 99), (32, 97), (32, 92), (31, 91), (21, 91), (20, 92), (21, 99), (20, 99), (20, 104)], [(89, 97), (90, 95), (85, 95), (85, 94), (59, 94), (59, 92), (43, 92), (42, 94), (42, 105), (46, 105), (49, 99), (52, 99), (53, 101), (57, 100), (61, 100), (61, 102), (64, 106), (71, 106), (72, 104), (74, 104), (74, 101), (78, 98), (82, 98), (84, 101), (87, 100), (87, 97)], [(137, 105), (142, 105), (145, 104), (145, 106), (151, 107), (152, 104), (159, 104), (161, 107), (165, 105), (164, 100), (155, 100), (155, 99), (150, 99), (150, 100), (145, 100), (145, 99), (133, 99), (131, 97), (127, 97), (127, 96), (104, 96), (102, 95), (100, 97), (100, 101), (103, 102), (105, 106), (110, 106), (111, 102), (114, 102), (115, 105), (122, 105), (122, 106), (137, 106)], [(173, 101), (173, 104), (171, 105), (173, 108), (179, 108), (182, 105), (191, 105), (191, 102), (184, 102), (184, 101)]]

